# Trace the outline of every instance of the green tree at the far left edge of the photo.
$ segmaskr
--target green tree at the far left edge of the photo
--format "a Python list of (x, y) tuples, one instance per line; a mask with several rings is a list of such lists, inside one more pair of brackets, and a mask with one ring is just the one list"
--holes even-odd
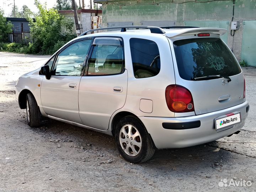
[(6, 21), (4, 11), (0, 9), (0, 42), (8, 40), (8, 33), (12, 32), (12, 26), (10, 21)]

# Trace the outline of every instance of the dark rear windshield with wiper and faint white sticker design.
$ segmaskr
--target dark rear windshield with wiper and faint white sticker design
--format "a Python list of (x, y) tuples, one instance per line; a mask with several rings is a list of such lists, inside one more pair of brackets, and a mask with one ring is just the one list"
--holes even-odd
[(174, 51), (180, 77), (194, 80), (207, 75), (233, 76), (241, 68), (220, 38), (177, 40)]

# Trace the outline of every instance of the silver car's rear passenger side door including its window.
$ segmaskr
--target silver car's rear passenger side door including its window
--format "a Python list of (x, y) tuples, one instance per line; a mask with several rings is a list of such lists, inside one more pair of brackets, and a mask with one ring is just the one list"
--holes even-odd
[(79, 86), (79, 114), (82, 124), (107, 130), (112, 114), (122, 108), (127, 95), (121, 38), (98, 37)]

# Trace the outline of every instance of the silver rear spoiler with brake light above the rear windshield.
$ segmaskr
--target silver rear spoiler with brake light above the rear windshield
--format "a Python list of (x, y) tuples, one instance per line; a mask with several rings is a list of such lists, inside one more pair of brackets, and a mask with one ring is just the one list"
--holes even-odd
[(223, 28), (189, 28), (189, 29), (180, 29), (180, 30), (172, 30), (167, 31), (165, 33), (166, 37), (176, 37), (178, 35), (184, 34), (195, 34), (195, 33), (214, 33), (219, 34), (220, 36), (225, 34), (227, 30)]

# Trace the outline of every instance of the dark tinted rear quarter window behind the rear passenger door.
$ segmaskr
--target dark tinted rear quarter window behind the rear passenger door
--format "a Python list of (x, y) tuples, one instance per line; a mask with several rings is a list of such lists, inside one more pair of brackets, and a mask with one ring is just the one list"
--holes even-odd
[(135, 78), (153, 77), (159, 73), (160, 54), (154, 41), (131, 38), (130, 51)]

